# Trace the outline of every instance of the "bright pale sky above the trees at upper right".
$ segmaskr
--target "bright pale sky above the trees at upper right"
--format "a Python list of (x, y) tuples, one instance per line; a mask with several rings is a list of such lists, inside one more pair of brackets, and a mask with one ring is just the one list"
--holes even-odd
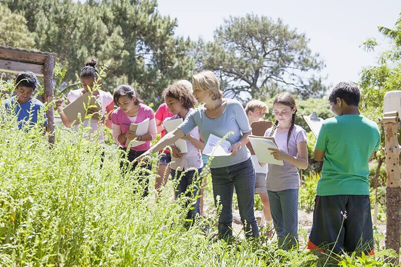
[[(378, 53), (389, 47), (377, 26), (393, 28), (401, 12), (401, 0), (158, 0), (158, 5), (161, 15), (177, 18), (175, 33), (192, 40), (212, 41), (214, 30), (229, 16), (281, 18), (310, 39), (312, 52), (326, 63), (322, 75), (327, 85), (357, 82), (362, 67), (374, 65)], [(359, 47), (368, 37), (382, 44), (375, 52)]]

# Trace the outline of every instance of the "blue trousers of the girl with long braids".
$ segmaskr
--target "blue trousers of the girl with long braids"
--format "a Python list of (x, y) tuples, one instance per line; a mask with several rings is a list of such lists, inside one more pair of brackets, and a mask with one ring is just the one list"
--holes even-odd
[(290, 249), (298, 242), (298, 189), (267, 193), (279, 246)]

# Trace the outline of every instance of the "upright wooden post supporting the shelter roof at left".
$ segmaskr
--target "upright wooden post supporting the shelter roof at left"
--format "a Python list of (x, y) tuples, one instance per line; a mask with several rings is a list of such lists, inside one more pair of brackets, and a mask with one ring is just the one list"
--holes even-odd
[[(43, 69), (43, 80), (45, 82), (45, 94), (44, 101), (46, 104), (53, 101), (53, 69), (55, 64), (55, 58), (51, 55), (46, 57), (45, 65)], [(49, 129), (49, 143), (54, 144), (55, 135), (54, 135), (54, 111), (53, 105), (46, 111), (46, 116), (48, 120), (48, 129)]]

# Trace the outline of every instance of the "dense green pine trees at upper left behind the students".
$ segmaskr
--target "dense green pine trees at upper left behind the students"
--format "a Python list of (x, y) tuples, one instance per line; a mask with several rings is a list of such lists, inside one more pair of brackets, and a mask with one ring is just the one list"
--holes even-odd
[[(64, 81), (77, 81), (84, 63), (111, 60), (103, 85), (113, 91), (128, 83), (146, 101), (160, 104), (160, 93), (193, 69), (191, 42), (174, 36), (176, 20), (161, 16), (156, 1), (6, 0), (26, 18), (35, 47), (57, 53)], [(19, 15), (20, 16), (20, 15)], [(21, 17), (21, 16), (20, 16)]]

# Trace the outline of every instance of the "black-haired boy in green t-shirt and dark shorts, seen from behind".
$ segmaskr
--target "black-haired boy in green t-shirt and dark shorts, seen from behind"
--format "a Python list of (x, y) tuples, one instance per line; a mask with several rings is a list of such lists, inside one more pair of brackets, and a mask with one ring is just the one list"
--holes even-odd
[(359, 100), (359, 89), (349, 83), (337, 84), (330, 94), (336, 116), (323, 122), (316, 141), (315, 158), (323, 160), (323, 170), (309, 249), (374, 253), (368, 161), (380, 145), (380, 132), (359, 113)]

